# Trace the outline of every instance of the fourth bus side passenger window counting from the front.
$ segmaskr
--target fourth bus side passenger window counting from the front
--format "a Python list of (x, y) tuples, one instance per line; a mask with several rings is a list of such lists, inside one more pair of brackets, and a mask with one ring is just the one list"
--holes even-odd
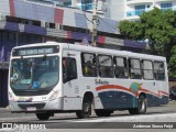
[(141, 79), (141, 65), (140, 59), (129, 59), (129, 72), (132, 79)]

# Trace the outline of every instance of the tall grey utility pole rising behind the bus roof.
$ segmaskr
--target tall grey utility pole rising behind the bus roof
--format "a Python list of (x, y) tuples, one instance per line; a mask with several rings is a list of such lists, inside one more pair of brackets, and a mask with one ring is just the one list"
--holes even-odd
[(91, 46), (97, 46), (96, 44), (96, 36), (97, 36), (97, 4), (98, 0), (94, 0), (92, 6), (92, 36), (91, 36)]

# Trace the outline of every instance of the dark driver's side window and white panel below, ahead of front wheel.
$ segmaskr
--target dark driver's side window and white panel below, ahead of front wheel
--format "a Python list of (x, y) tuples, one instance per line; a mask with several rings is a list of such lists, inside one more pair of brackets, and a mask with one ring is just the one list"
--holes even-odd
[(74, 57), (63, 57), (64, 110), (80, 108), (77, 63)]

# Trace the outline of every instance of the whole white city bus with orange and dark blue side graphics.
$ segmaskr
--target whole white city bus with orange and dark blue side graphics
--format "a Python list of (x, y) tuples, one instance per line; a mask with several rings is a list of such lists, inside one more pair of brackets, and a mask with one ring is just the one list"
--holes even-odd
[(125, 51), (47, 42), (12, 50), (9, 72), (12, 112), (40, 120), (76, 112), (87, 118), (114, 110), (142, 114), (168, 103), (166, 58)]

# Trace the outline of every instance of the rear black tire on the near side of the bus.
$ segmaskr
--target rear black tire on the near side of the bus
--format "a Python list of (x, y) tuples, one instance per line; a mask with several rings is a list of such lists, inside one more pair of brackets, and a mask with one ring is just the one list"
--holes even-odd
[(146, 113), (146, 99), (144, 96), (139, 97), (138, 108), (129, 109), (130, 114), (144, 114)]

